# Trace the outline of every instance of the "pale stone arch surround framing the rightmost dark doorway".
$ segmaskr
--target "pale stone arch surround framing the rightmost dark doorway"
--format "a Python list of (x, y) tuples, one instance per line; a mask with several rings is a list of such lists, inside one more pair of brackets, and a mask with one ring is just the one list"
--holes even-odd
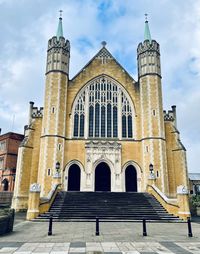
[(139, 164), (135, 161), (128, 161), (126, 162), (123, 167), (122, 167), (122, 176), (123, 176), (123, 186), (124, 186), (124, 191), (126, 191), (126, 175), (125, 171), (129, 166), (133, 166), (136, 170), (137, 173), (137, 191), (141, 192), (141, 174), (142, 174), (142, 169), (139, 166)]

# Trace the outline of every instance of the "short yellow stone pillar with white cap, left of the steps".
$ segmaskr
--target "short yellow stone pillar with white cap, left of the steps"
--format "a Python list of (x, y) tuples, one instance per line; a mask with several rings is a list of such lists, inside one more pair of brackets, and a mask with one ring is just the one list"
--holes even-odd
[(32, 220), (36, 218), (40, 213), (39, 211), (40, 191), (41, 191), (40, 184), (38, 183), (31, 184), (28, 200), (28, 211), (26, 216), (27, 220)]

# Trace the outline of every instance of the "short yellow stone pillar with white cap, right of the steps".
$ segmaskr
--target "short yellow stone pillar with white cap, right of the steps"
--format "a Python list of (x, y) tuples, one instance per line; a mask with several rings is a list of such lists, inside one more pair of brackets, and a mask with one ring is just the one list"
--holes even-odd
[(178, 216), (186, 220), (191, 217), (189, 207), (189, 191), (184, 185), (177, 187), (177, 204), (179, 206)]

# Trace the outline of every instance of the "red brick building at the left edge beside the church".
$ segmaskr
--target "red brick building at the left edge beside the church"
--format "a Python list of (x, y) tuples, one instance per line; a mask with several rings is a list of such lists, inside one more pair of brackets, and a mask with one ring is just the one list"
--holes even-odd
[(0, 135), (0, 191), (14, 190), (18, 147), (23, 139), (24, 135), (13, 132)]

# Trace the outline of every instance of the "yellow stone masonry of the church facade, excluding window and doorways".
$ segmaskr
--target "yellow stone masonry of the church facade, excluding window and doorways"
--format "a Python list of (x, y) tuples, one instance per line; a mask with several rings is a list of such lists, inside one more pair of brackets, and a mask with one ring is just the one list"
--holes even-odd
[[(108, 54), (107, 49), (103, 48), (102, 50)], [(55, 52), (55, 54), (61, 54), (62, 51)], [(51, 62), (49, 66), (50, 64)], [(149, 191), (161, 200), (161, 197), (149, 184), (149, 165), (152, 163), (156, 177), (156, 188), (169, 199), (176, 199), (176, 204), (172, 206), (165, 204), (166, 209), (169, 212), (174, 211), (174, 214), (178, 214), (182, 209), (181, 212), (189, 215), (187, 196), (177, 195), (178, 186), (183, 185), (186, 189), (188, 188), (186, 152), (179, 141), (179, 133), (175, 126), (176, 119), (163, 114), (160, 75), (151, 72), (139, 75), (139, 80), (136, 82), (113, 57), (104, 59), (99, 55), (94, 57), (72, 80), (69, 80), (68, 73), (62, 70), (51, 70), (51, 66), (48, 67), (48, 70), (42, 116), (32, 114), (31, 124), (27, 127), (25, 140), (19, 149), (12, 206), (16, 210), (29, 209), (28, 219), (35, 217), (37, 211), (41, 212), (41, 210), (47, 209), (46, 207), (49, 207), (47, 204), (41, 206), (45, 208), (39, 208), (39, 198), (47, 197), (55, 183), (61, 183), (61, 189), (67, 190), (68, 165), (73, 162), (81, 167), (81, 177), (83, 177), (81, 184), (84, 185), (81, 189), (86, 190), (89, 188), (88, 179), (94, 177), (95, 172), (94, 167), (91, 172), (88, 169), (91, 162), (86, 149), (88, 141), (97, 142), (99, 151), (106, 149), (101, 146), (108, 146), (109, 142), (117, 142), (120, 145), (120, 152), (115, 150), (118, 159), (115, 161), (112, 159), (113, 161), (109, 161), (109, 163), (113, 164), (113, 170), (116, 170), (111, 175), (121, 179), (120, 190), (125, 190), (123, 186), (125, 184), (125, 169), (126, 165), (131, 164), (134, 165), (137, 172), (138, 191)], [(133, 138), (73, 137), (74, 102), (80, 91), (98, 77), (110, 79), (126, 91), (127, 97), (133, 104)], [(96, 162), (106, 162), (106, 156), (110, 156), (110, 158), (114, 156), (112, 155), (113, 150), (110, 149), (110, 151), (107, 151), (106, 155), (103, 152), (98, 155), (98, 152), (93, 148)], [(59, 168), (56, 169), (58, 162)], [(115, 169), (118, 162), (121, 163), (119, 172)], [(61, 178), (55, 178), (56, 174), (60, 174)], [(30, 192), (30, 185), (33, 183), (40, 184), (39, 194)], [(117, 188), (115, 185), (113, 186), (113, 188)], [(90, 188), (93, 188), (92, 185)], [(94, 191), (94, 188), (90, 190)], [(34, 209), (35, 214), (32, 213)]]

